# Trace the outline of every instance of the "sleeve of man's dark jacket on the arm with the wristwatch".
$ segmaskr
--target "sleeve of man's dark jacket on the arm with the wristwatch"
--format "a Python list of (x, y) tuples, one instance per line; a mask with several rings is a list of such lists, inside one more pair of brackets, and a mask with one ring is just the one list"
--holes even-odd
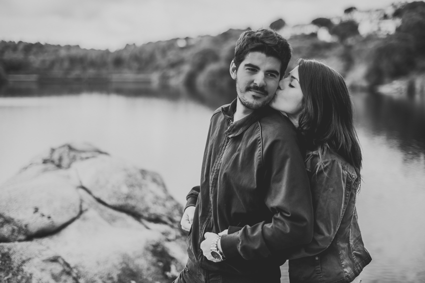
[(239, 232), (223, 235), (221, 249), (228, 258), (265, 258), (311, 241), (311, 192), (295, 133), (271, 139), (262, 150), (264, 203), (273, 216), (271, 222), (246, 225)]

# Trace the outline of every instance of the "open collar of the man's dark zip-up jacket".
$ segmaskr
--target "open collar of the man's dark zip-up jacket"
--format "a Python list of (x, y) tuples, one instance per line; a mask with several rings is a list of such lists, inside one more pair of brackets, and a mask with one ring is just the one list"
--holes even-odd
[[(234, 112), (236, 111), (236, 100), (237, 98), (234, 99), (230, 104), (227, 104), (221, 107), (221, 113), (229, 121), (233, 120), (233, 115), (234, 115)], [(257, 121), (266, 113), (269, 113), (269, 111), (272, 111), (272, 109), (268, 105), (259, 109), (255, 109), (248, 116), (245, 116), (242, 119), (231, 124), (224, 133), (230, 138), (235, 137), (243, 133), (252, 123)]]

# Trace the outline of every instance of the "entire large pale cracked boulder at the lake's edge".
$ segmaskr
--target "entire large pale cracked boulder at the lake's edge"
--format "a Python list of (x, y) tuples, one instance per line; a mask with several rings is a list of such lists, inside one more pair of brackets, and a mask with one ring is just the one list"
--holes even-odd
[(172, 282), (181, 211), (158, 174), (86, 144), (50, 149), (0, 187), (0, 282)]

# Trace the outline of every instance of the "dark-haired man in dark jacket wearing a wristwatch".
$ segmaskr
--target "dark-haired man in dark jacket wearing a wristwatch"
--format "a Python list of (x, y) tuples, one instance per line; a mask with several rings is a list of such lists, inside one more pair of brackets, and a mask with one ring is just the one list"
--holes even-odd
[(268, 106), (290, 56), (289, 43), (271, 29), (237, 40), (230, 64), (237, 98), (211, 117), (201, 183), (187, 195), (181, 220), (191, 229), (189, 259), (176, 283), (277, 283), (283, 250), (311, 241), (297, 134)]

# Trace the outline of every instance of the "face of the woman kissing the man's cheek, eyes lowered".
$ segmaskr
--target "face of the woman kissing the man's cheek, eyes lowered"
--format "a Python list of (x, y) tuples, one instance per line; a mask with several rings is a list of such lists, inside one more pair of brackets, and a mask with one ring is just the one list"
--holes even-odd
[(289, 118), (297, 119), (302, 111), (302, 91), (299, 86), (298, 66), (279, 81), (276, 94), (270, 102), (273, 109), (282, 111)]

